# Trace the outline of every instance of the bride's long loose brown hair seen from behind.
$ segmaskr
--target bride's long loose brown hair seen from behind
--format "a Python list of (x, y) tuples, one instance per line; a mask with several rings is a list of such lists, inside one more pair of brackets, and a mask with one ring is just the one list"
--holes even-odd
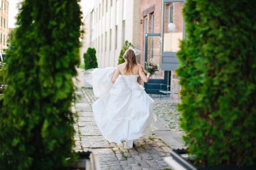
[(123, 58), (125, 59), (125, 71), (130, 73), (134, 65), (137, 64), (134, 51), (132, 51), (131, 49), (126, 50)]

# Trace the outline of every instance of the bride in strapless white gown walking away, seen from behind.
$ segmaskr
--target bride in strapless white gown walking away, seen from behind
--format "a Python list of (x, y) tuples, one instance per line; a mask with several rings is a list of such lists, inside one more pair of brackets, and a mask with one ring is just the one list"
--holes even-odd
[(125, 149), (133, 147), (133, 140), (143, 136), (146, 127), (155, 130), (154, 100), (137, 83), (138, 76), (148, 82), (151, 74), (145, 76), (143, 66), (137, 64), (137, 51), (129, 48), (123, 56), (125, 63), (88, 70), (89, 76), (85, 77), (93, 85), (95, 96), (100, 97), (92, 108), (102, 136), (117, 144), (125, 140)]

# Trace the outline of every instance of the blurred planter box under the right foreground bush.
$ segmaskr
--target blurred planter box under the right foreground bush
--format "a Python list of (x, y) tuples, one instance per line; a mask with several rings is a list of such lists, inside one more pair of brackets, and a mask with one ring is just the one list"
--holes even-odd
[(184, 149), (172, 150), (170, 156), (166, 157), (164, 161), (172, 167), (173, 170), (256, 170), (256, 165), (253, 166), (242, 166), (237, 165), (219, 165), (212, 167), (195, 167), (189, 160), (193, 158), (189, 157), (188, 153)]

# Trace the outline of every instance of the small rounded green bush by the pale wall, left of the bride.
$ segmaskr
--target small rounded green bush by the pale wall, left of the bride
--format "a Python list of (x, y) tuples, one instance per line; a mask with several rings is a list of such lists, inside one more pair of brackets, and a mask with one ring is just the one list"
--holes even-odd
[(98, 62), (95, 48), (89, 47), (84, 53), (84, 69), (88, 70), (90, 68), (98, 68)]

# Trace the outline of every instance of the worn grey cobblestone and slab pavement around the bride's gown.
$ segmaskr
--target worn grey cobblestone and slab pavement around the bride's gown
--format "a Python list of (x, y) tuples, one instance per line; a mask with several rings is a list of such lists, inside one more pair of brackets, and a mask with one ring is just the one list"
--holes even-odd
[[(145, 131), (144, 136), (134, 140), (133, 149), (124, 149), (122, 144), (109, 143), (103, 138), (96, 126), (91, 105), (97, 100), (93, 95), (92, 88), (79, 88), (76, 91), (76, 103), (73, 103), (76, 130), (75, 142), (76, 151), (91, 151), (99, 159), (102, 170), (171, 170), (163, 160), (174, 147), (183, 146), (174, 140), (172, 144), (166, 144), (157, 134), (177, 132), (179, 138), (183, 134), (178, 126), (180, 115), (175, 107), (172, 98), (160, 95), (150, 95), (154, 99), (154, 113), (159, 122), (166, 125), (158, 132)], [(160, 123), (160, 124), (161, 124)], [(162, 126), (164, 126), (161, 124)], [(172, 142), (172, 140), (171, 140)]]

